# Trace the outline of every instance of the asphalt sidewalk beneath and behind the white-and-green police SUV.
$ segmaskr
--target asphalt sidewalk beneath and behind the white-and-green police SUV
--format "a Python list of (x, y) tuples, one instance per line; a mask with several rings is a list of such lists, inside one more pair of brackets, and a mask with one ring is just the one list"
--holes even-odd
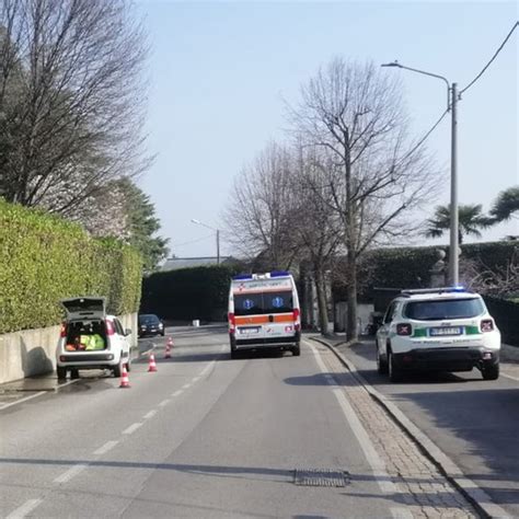
[(519, 366), (501, 364), (497, 381), (477, 370), (416, 374), (390, 383), (376, 370), (374, 344), (341, 353), (483, 488), (519, 517)]

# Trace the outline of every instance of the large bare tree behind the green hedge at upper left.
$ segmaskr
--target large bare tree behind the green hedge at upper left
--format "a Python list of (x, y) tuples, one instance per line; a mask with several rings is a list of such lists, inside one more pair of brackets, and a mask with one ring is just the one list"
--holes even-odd
[(77, 217), (149, 164), (147, 55), (126, 0), (2, 0), (0, 194)]

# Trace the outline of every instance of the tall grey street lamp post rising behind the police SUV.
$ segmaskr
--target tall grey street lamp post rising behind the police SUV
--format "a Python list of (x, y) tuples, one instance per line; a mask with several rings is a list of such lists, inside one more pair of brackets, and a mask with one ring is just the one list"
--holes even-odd
[(431, 76), (440, 79), (447, 84), (447, 109), (451, 113), (451, 154), (450, 154), (450, 253), (449, 253), (449, 280), (451, 285), (458, 285), (459, 280), (459, 249), (458, 249), (458, 83), (450, 84), (443, 76), (426, 72), (425, 70), (405, 67), (397, 61), (383, 64), (382, 67), (397, 67), (412, 72)]

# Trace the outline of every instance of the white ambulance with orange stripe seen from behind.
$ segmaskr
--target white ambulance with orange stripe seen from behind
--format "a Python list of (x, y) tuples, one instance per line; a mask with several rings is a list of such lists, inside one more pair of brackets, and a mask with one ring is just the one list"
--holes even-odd
[(301, 311), (291, 274), (278, 270), (232, 278), (229, 337), (231, 358), (240, 351), (260, 348), (300, 355)]

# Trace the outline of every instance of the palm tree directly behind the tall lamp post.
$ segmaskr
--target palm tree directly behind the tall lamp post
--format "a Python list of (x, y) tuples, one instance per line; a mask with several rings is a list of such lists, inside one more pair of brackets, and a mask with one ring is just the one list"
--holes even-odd
[[(472, 234), (480, 238), (480, 229), (486, 229), (495, 223), (494, 218), (489, 218), (482, 212), (481, 204), (460, 205), (458, 208), (458, 243), (463, 243), (465, 234)], [(424, 234), (429, 238), (438, 238), (445, 231), (450, 229), (450, 208), (449, 206), (438, 206), (435, 210), (435, 217), (427, 220), (427, 229)]]

